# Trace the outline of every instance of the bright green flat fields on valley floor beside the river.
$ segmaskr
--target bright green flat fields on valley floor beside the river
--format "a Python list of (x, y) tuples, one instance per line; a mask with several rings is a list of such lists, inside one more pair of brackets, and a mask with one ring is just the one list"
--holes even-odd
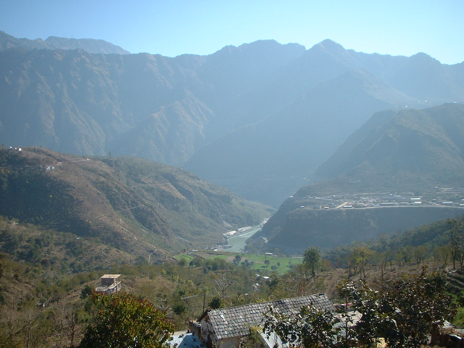
[[(199, 251), (194, 255), (180, 254), (174, 256), (174, 258), (177, 260), (185, 259), (187, 264), (193, 259), (194, 256), (198, 256), (203, 259), (220, 258), (226, 260), (227, 262), (233, 263), (236, 255), (240, 255), (238, 265), (241, 265), (242, 262), (246, 263), (246, 261), (248, 261), (248, 267), (250, 269), (256, 270), (257, 273), (261, 272), (263, 274), (271, 272), (284, 274), (285, 272), (290, 271), (294, 265), (301, 264), (303, 262), (303, 258), (280, 258), (272, 255), (241, 254), (226, 251)], [(269, 261), (268, 264), (266, 264), (266, 260)]]

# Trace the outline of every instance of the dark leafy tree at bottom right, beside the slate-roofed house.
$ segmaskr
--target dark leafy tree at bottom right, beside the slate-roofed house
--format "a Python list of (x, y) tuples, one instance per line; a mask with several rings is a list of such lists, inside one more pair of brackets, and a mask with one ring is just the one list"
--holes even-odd
[(368, 344), (384, 337), (389, 347), (421, 347), (428, 335), (436, 337), (456, 308), (445, 290), (445, 278), (435, 273), (403, 277), (379, 292), (366, 284), (344, 284), (340, 294), (361, 313), (357, 337)]

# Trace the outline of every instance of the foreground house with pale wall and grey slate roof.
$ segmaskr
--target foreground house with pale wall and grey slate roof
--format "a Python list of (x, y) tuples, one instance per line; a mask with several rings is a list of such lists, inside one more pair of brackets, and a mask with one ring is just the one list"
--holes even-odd
[(250, 333), (250, 327), (264, 325), (263, 313), (269, 306), (284, 315), (297, 314), (302, 307), (312, 305), (318, 309), (334, 311), (335, 307), (325, 294), (285, 298), (283, 300), (251, 303), (225, 309), (206, 310), (198, 319), (200, 339), (206, 347), (235, 348), (240, 337)]

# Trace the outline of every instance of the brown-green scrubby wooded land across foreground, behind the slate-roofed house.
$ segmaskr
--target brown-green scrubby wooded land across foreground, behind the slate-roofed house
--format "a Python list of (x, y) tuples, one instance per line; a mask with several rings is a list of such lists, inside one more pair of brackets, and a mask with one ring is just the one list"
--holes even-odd
[[(453, 306), (458, 306), (453, 322), (463, 325), (464, 286), (460, 282), (464, 280), (461, 272), (464, 243), (460, 220), (439, 222), (391, 239), (343, 246), (324, 253), (313, 248), (303, 258), (302, 264), (294, 264), (283, 274), (270, 270), (268, 279), (257, 277), (257, 271), (242, 264), (243, 260), (234, 264), (235, 257), (232, 262), (193, 257), (192, 263), (174, 259), (163, 264), (148, 264), (147, 260), (113, 266), (100, 263), (98, 271), (85, 271), (86, 267), (94, 267), (99, 260), (84, 258), (82, 262), (89, 266), (79, 266), (78, 258), (70, 253), (72, 248), (65, 246), (71, 241), (79, 242), (74, 236), (35, 233), (32, 225), (13, 226), (7, 220), (4, 224), (0, 244), (3, 251), (0, 255), (0, 342), (7, 347), (77, 346), (86, 327), (94, 320), (95, 307), (89, 294), (103, 273), (121, 273), (124, 292), (154, 303), (176, 329), (185, 329), (189, 320), (196, 320), (207, 308), (319, 292), (327, 293), (335, 303), (355, 303), (340, 295), (338, 284), (358, 284), (354, 289), (360, 292), (360, 298), (372, 300), (375, 294), (391, 293), (408, 279), (417, 281), (421, 275), (425, 279), (443, 276), (447, 282), (440, 284), (440, 289), (444, 289), (448, 296), (446, 301), (443, 302), (445, 297), (432, 296), (423, 303), (442, 301), (442, 307), (450, 309), (449, 314), (453, 314)], [(27, 232), (29, 230), (31, 232)], [(441, 245), (439, 240), (442, 240)], [(16, 243), (15, 248), (11, 248), (12, 243)], [(86, 250), (98, 245), (91, 241), (88, 243), (83, 246)], [(42, 247), (36, 249), (36, 244)], [(263, 258), (266, 260), (265, 256)], [(456, 271), (449, 272), (453, 263)], [(426, 265), (437, 270), (436, 278), (423, 271)], [(73, 266), (76, 267), (73, 269)], [(412, 294), (419, 295), (417, 292), (415, 290)], [(454, 304), (449, 303), (449, 296)], [(393, 312), (384, 310), (387, 305), (393, 306), (387, 300), (382, 299), (383, 302), (378, 302), (373, 309), (382, 315), (390, 313), (388, 315), (392, 316)], [(403, 304), (406, 303), (405, 300)], [(399, 325), (400, 318), (394, 317), (394, 320)], [(380, 335), (380, 329), (375, 330), (375, 335)], [(410, 342), (407, 341), (409, 339), (404, 340)]]

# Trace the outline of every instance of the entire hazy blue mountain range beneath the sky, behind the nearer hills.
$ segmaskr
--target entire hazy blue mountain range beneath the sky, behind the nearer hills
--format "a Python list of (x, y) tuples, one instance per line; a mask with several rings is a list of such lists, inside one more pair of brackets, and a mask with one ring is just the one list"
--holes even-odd
[(170, 58), (111, 51), (100, 40), (39, 47), (1, 38), (5, 144), (139, 156), (273, 206), (313, 182), (374, 112), (464, 101), (464, 63), (365, 54), (331, 40), (309, 50), (260, 40)]

